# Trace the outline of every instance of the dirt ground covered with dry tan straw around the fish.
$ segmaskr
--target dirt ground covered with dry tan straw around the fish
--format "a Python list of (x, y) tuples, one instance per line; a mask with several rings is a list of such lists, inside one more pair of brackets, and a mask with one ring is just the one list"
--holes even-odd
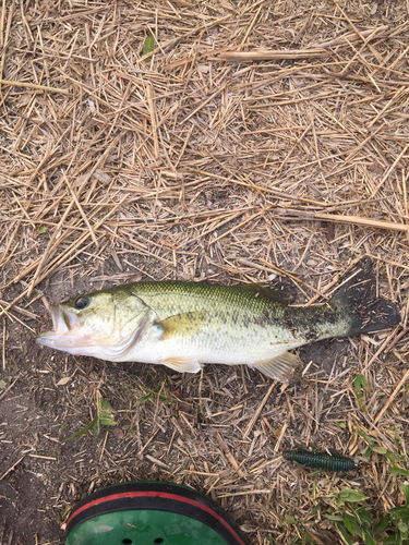
[[(406, 0), (3, 0), (1, 545), (63, 543), (75, 501), (125, 480), (209, 494), (263, 545), (341, 542), (342, 488), (375, 519), (405, 502), (408, 16)], [(274, 281), (316, 304), (363, 255), (401, 324), (301, 349), (286, 385), (35, 344), (77, 293)], [(116, 424), (65, 441), (100, 399)], [(280, 456), (297, 444), (360, 465), (310, 475)]]

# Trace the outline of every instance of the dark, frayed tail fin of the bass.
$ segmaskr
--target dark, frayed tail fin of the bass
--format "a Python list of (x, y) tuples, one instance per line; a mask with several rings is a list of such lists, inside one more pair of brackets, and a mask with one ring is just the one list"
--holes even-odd
[(349, 323), (346, 336), (388, 329), (400, 322), (396, 303), (376, 296), (373, 262), (368, 257), (358, 263), (328, 304)]

